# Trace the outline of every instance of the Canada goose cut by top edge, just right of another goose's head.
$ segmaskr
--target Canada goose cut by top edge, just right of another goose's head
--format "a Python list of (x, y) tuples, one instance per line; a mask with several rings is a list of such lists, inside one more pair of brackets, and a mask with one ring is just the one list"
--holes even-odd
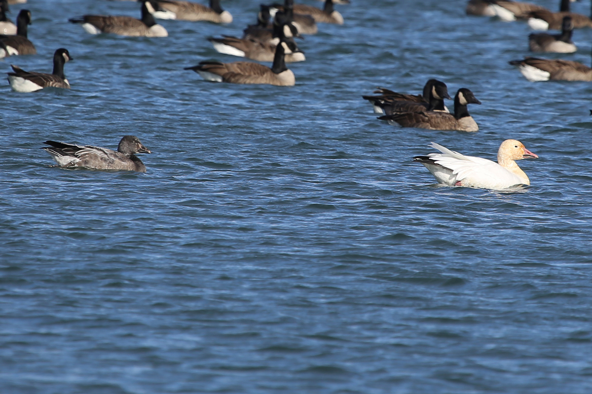
[(180, 21), (208, 21), (214, 23), (231, 23), (232, 15), (220, 6), (220, 0), (210, 0), (210, 6), (181, 0), (157, 0), (163, 11), (153, 15), (161, 19), (178, 19)]

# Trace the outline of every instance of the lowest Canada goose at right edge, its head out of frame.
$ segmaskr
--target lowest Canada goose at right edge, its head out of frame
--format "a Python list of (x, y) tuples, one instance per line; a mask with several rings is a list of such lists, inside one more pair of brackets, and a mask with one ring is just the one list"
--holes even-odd
[(509, 63), (530, 82), (592, 81), (592, 69), (578, 61), (526, 57)]

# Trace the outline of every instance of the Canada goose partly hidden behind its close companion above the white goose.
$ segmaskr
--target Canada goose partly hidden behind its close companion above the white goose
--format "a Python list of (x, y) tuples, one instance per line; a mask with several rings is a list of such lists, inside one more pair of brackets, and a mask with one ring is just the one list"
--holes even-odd
[(444, 99), (451, 99), (448, 87), (437, 79), (430, 79), (423, 87), (423, 95), (404, 95), (378, 87), (380, 96), (362, 96), (372, 103), (375, 113), (392, 115), (394, 112), (421, 112), (425, 110), (448, 112)]

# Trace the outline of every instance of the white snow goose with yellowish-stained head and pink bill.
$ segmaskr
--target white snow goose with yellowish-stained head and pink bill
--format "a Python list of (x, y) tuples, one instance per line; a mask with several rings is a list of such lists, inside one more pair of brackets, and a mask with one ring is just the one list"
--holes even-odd
[(516, 160), (538, 158), (516, 139), (506, 139), (497, 151), (497, 163), (488, 159), (465, 156), (432, 142), (432, 148), (441, 153), (416, 156), (432, 172), (438, 183), (450, 186), (504, 190), (519, 185), (530, 185), (525, 172)]

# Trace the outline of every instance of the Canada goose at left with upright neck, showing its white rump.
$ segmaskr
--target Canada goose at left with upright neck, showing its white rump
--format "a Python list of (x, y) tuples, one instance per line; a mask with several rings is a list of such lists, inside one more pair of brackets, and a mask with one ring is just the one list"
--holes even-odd
[(67, 49), (59, 48), (53, 54), (53, 71), (51, 74), (33, 73), (11, 64), (13, 73), (8, 73), (8, 83), (15, 92), (35, 92), (44, 87), (61, 87), (70, 89), (70, 83), (64, 76), (64, 64), (72, 60)]

